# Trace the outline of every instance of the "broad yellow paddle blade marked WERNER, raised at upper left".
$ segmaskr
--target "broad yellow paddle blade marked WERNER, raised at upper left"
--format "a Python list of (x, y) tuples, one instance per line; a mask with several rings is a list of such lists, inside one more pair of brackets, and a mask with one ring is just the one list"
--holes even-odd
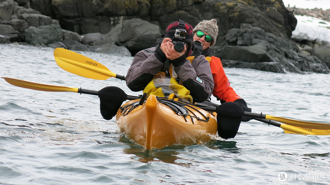
[(116, 77), (116, 74), (111, 72), (106, 66), (64, 48), (56, 48), (54, 50), (54, 58), (57, 65), (62, 69), (82, 77), (96, 80)]

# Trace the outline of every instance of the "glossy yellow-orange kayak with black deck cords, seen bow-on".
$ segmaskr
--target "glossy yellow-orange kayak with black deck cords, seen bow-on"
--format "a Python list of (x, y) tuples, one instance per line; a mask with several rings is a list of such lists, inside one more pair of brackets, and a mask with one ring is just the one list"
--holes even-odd
[(216, 113), (154, 95), (122, 105), (116, 124), (120, 133), (147, 150), (203, 145), (217, 137)]

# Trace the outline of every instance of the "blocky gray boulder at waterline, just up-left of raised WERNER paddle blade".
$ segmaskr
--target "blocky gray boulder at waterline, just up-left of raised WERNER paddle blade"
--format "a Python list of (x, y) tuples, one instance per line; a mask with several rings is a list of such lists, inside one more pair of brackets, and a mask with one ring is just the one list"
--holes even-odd
[(62, 29), (58, 25), (30, 26), (25, 29), (26, 42), (33, 45), (47, 45), (62, 41)]

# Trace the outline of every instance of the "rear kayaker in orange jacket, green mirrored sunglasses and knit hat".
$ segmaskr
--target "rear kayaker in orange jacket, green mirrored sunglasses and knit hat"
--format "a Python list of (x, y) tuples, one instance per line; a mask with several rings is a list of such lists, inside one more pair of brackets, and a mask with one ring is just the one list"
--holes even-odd
[[(212, 46), (215, 44), (218, 36), (218, 26), (216, 19), (204, 20), (199, 22), (193, 29), (194, 41), (200, 41), (203, 46), (202, 55), (210, 62), (210, 67), (213, 75), (214, 88), (212, 94), (224, 102), (235, 102), (243, 108), (246, 112), (251, 112), (247, 103), (230, 87), (230, 82), (223, 70), (221, 60), (213, 56), (214, 51)], [(249, 117), (243, 117), (242, 121), (249, 121)]]

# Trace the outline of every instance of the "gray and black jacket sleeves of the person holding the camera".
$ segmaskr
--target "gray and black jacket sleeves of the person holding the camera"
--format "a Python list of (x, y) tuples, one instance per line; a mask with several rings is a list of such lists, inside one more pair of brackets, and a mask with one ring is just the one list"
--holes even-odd
[[(135, 92), (144, 90), (154, 75), (163, 70), (165, 60), (163, 51), (155, 51), (155, 47), (138, 52), (127, 72), (127, 87)], [(205, 56), (199, 55), (190, 63), (183, 55), (170, 62), (194, 101), (203, 102), (211, 96), (214, 82), (210, 64)]]

